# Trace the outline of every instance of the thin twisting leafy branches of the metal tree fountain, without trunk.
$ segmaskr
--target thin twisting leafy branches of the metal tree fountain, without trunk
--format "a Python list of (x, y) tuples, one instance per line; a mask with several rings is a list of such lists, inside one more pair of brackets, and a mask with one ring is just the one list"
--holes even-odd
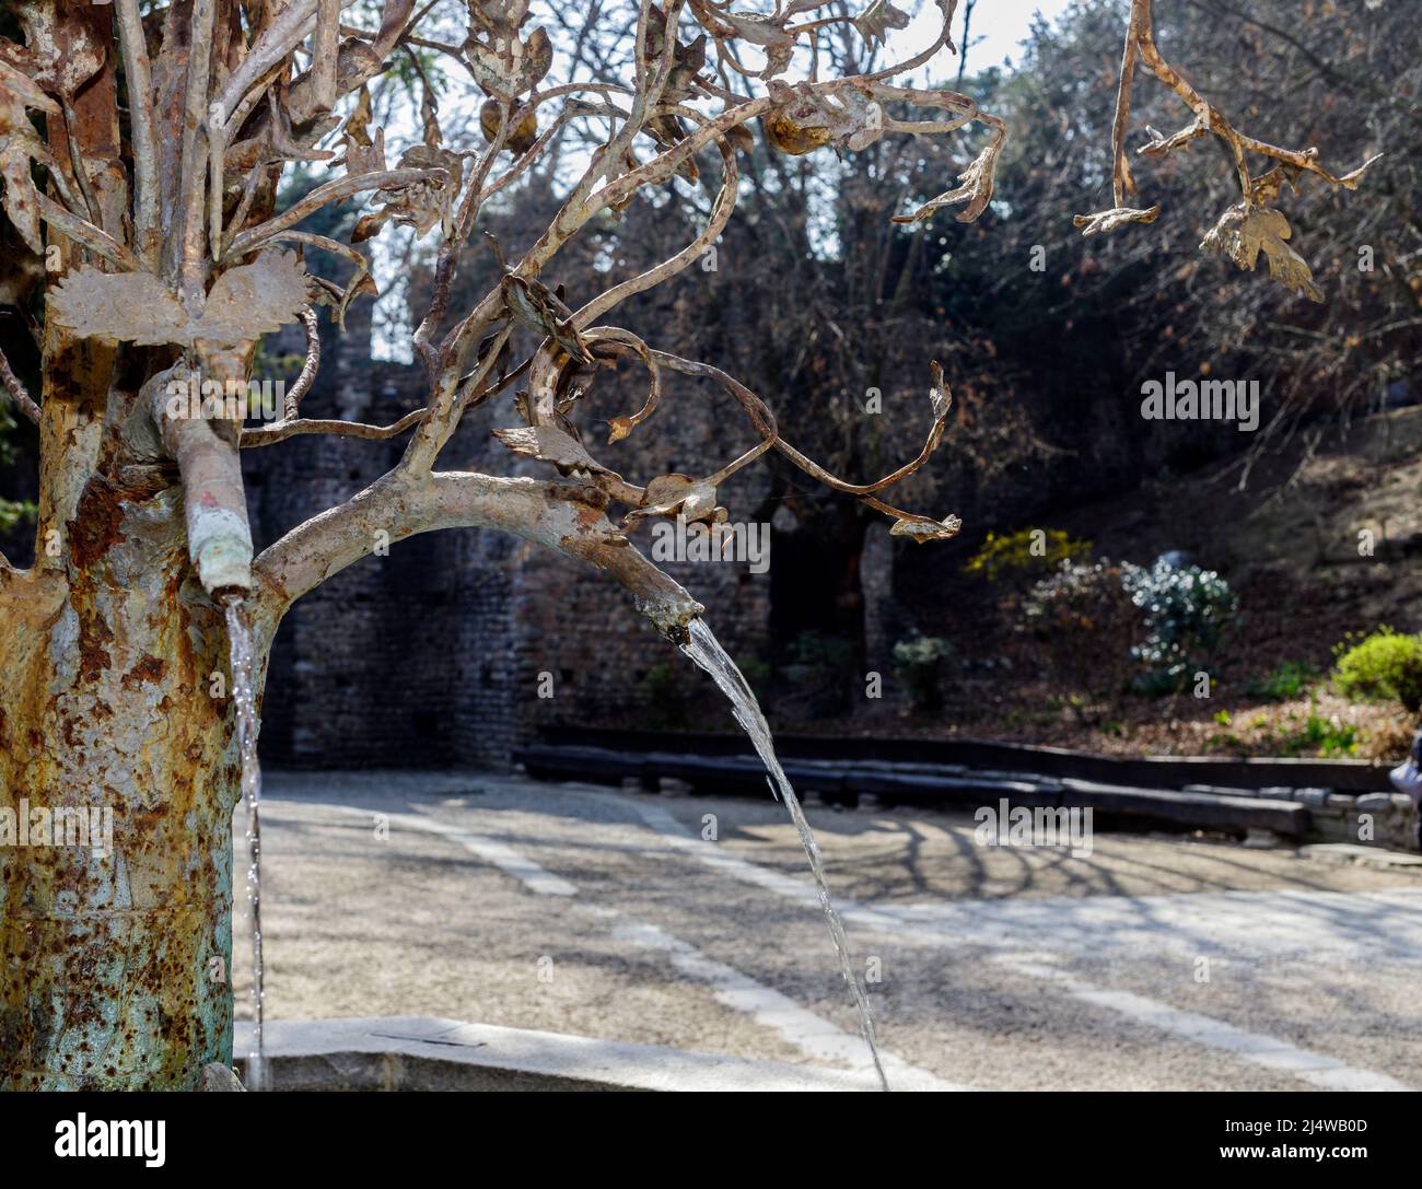
[[(189, 363), (208, 367), (213, 360), (229, 360), (223, 367), (233, 375), (240, 368), (233, 371), (230, 360), (250, 358), (255, 334), (262, 333), (253, 333), (253, 329), (270, 329), (293, 316), (290, 306), (263, 313), (266, 299), (256, 290), (252, 300), (257, 316), (250, 323), (240, 319), (236, 323), (223, 321), (232, 316), (223, 313), (218, 293), (229, 276), (245, 267), (242, 262), (284, 240), (331, 252), (354, 266), (344, 289), (326, 279), (306, 276), (304, 294), (283, 296), (283, 302), (304, 297), (294, 316), (306, 323), (306, 360), (277, 422), (242, 431), (240, 435), (208, 427), (210, 435), (223, 439), (223, 465), (229, 472), (239, 444), (263, 447), (306, 434), (378, 441), (412, 431), (391, 482), (421, 481), (421, 476), (434, 474), (438, 455), (465, 410), (506, 391), (526, 370), (535, 395), (528, 402), (525, 428), (501, 431), (506, 444), (560, 471), (586, 475), (602, 498), (629, 505), (629, 525), (653, 515), (684, 515), (688, 506), (705, 515), (724, 515), (724, 509), (714, 505), (717, 485), (775, 451), (829, 489), (892, 515), (897, 533), (933, 539), (956, 530), (956, 518), (937, 521), (919, 516), (880, 499), (887, 488), (926, 465), (941, 442), (948, 394), (937, 371), (930, 390), (934, 415), (923, 448), (877, 482), (853, 484), (835, 476), (792, 447), (781, 435), (765, 401), (727, 373), (660, 350), (619, 327), (597, 326), (619, 303), (684, 273), (728, 226), (739, 189), (737, 152), (754, 141), (751, 128), (755, 124), (762, 125), (772, 154), (784, 156), (818, 149), (856, 152), (886, 135), (941, 137), (975, 122), (988, 135), (978, 156), (961, 172), (960, 185), (909, 213), (897, 215), (894, 222), (924, 222), (950, 208), (956, 208), (961, 222), (977, 219), (993, 199), (1005, 125), (981, 111), (968, 95), (896, 82), (931, 61), (944, 47), (951, 47), (953, 0), (939, 0), (941, 24), (926, 48), (904, 61), (882, 67), (876, 64), (877, 44), (887, 28), (900, 28), (906, 21), (904, 14), (884, 0), (859, 14), (836, 11), (823, 17), (805, 16), (820, 6), (781, 6), (772, 16), (749, 17), (708, 0), (671, 0), (664, 6), (640, 0), (636, 24), (623, 34), (621, 44), (630, 50), (626, 71), (616, 74), (617, 67), (611, 65), (616, 55), (606, 54), (593, 77), (577, 77), (577, 64), (583, 61), (583, 41), (579, 40), (573, 74), (563, 75), (556, 85), (545, 85), (553, 61), (553, 43), (543, 30), (525, 31), (526, 4), (475, 4), (464, 44), (418, 34), (419, 21), (432, 7), (428, 3), (417, 11), (414, 0), (387, 0), (380, 27), (374, 31), (343, 27), (340, 14), (344, 7), (348, 7), (344, 0), (292, 0), (270, 14), (252, 43), (239, 48), (230, 61), (219, 61), (226, 53), (220, 47), (226, 44), (230, 0), (195, 0), (188, 14), (171, 16), (166, 23), (172, 27), (173, 21), (182, 20), (188, 26), (186, 44), (169, 47), (165, 37), (151, 63), (138, 6), (135, 0), (121, 0), (117, 9), (118, 31), (134, 95), (129, 111), (135, 178), (134, 242), (125, 245), (92, 220), (38, 196), (41, 219), (128, 273), (152, 274), (145, 229), (155, 223), (161, 226), (168, 243), (164, 277), (178, 289), (186, 320), (165, 314), (172, 329), (149, 330), (135, 326), (131, 316), (127, 321), (119, 319), (125, 326), (119, 340), (158, 343), (164, 334), (171, 334), (171, 341), (189, 351)], [(795, 14), (789, 16), (786, 9)], [(688, 24), (701, 36), (684, 41), (683, 30)], [(843, 53), (838, 50), (838, 41), (833, 47), (829, 44), (825, 37), (829, 31), (833, 31), (833, 38), (846, 38)], [(344, 43), (343, 36), (348, 38)], [(855, 37), (862, 38), (866, 48), (862, 55), (849, 44), (849, 38)], [(397, 164), (387, 164), (383, 132), (368, 127), (371, 107), (364, 88), (367, 80), (387, 67), (392, 54), (412, 46), (456, 61), (489, 97), (481, 114), (486, 135), (482, 151), (455, 152), (445, 148), (435, 121), (432, 92), (425, 81), (422, 144), (407, 148)], [(304, 73), (294, 67), (293, 54), (299, 48), (310, 54), (310, 68)], [(788, 82), (785, 78), (791, 77), (796, 50), (808, 50), (812, 67), (808, 77)], [(822, 73), (822, 58), (867, 65), (862, 73), (828, 77)], [(1187, 129), (1167, 141), (1158, 138), (1143, 151), (1169, 152), (1206, 132), (1224, 139), (1240, 165), (1244, 210), (1229, 216), (1234, 222), (1223, 230), (1217, 229), (1221, 250), (1243, 259), (1247, 245), (1257, 238), (1271, 253), (1271, 267), (1283, 262), (1278, 267), (1294, 269), (1297, 276), (1297, 267), (1278, 255), (1274, 240), (1264, 235), (1277, 232), (1281, 236), (1283, 232), (1276, 225), (1261, 230), (1250, 222), (1253, 212), (1277, 195), (1278, 183), (1285, 176), (1278, 171), (1311, 172), (1338, 186), (1357, 185), (1361, 171), (1335, 176), (1318, 165), (1311, 149), (1280, 149), (1237, 132), (1160, 57), (1153, 41), (1149, 0), (1133, 0), (1122, 51), (1112, 125), (1116, 209), (1084, 219), (1086, 233), (1109, 230), (1123, 222), (1148, 222), (1156, 215), (1155, 208), (1125, 208), (1135, 192), (1125, 139), (1132, 81), (1139, 63), (1145, 63), (1180, 95), (1194, 115), (1194, 124)], [(415, 70), (422, 78), (418, 63)], [(727, 80), (732, 75), (741, 80), (737, 85), (748, 94), (728, 90)], [(341, 95), (351, 91), (361, 98), (341, 125), (344, 155), (334, 162), (336, 166), (344, 164), (344, 174), (316, 185), (277, 213), (280, 168), (294, 159), (320, 162), (336, 156), (333, 152), (317, 152), (314, 145), (336, 129), (337, 119), (330, 112)], [(44, 107), (50, 101), (36, 95), (30, 102)], [(910, 112), (907, 117), (904, 108)], [(498, 283), (451, 326), (447, 316), (455, 282), (485, 203), (526, 178), (557, 142), (560, 132), (580, 117), (606, 121), (607, 131), (600, 146), (589, 155), (543, 232), (505, 267)], [(156, 178), (161, 148), (155, 142), (164, 138), (169, 142), (176, 139), (181, 148), (176, 156), (171, 156), (179, 179), (166, 199)], [(648, 145), (654, 152), (646, 158), (641, 154)], [(697, 156), (712, 145), (721, 156), (722, 175), (701, 229), (658, 265), (600, 293), (584, 294), (582, 303), (570, 309), (562, 299), (562, 290), (555, 292), (557, 287), (543, 280), (545, 273), (556, 266), (562, 249), (592, 220), (623, 209), (638, 193), (671, 185), (678, 176), (698, 178)], [(1271, 159), (1276, 169), (1253, 178), (1247, 154)], [(232, 175), (230, 193), (228, 174)], [(78, 176), (84, 181), (82, 168)], [(438, 229), (429, 303), (414, 333), (414, 348), (425, 364), (429, 381), (425, 405), (390, 425), (301, 418), (300, 400), (314, 381), (320, 363), (311, 302), (330, 302), (337, 320), (344, 323), (348, 304), (373, 286), (367, 257), (354, 246), (327, 235), (297, 230), (297, 226), (333, 203), (373, 192), (378, 210), (361, 220), (357, 240), (378, 233), (387, 220), (414, 228), (417, 235)], [(74, 206), (77, 199), (71, 195), (65, 201)], [(164, 202), (169, 209), (155, 213), (155, 203), (162, 208)], [(232, 212), (230, 216), (228, 212)], [(1307, 277), (1298, 284), (1305, 286)], [(236, 292), (230, 284), (228, 289)], [(156, 299), (146, 304), (162, 307)], [(526, 364), (509, 373), (503, 347), (515, 326), (535, 327), (542, 343)], [(205, 330), (208, 327), (212, 330)], [(199, 330), (216, 334), (218, 341), (203, 341)], [(441, 330), (444, 337), (437, 341)], [(582, 445), (570, 418), (576, 415), (577, 395), (596, 378), (599, 367), (619, 356), (637, 357), (647, 367), (650, 383), (641, 408), (614, 421), (614, 439), (633, 432), (664, 407), (664, 374), (681, 373), (708, 378), (732, 394), (747, 412), (758, 441), (704, 479), (654, 476), (638, 485), (613, 474)], [(587, 368), (592, 368), (592, 378), (583, 374)], [(202, 374), (208, 375), (206, 371)], [(574, 378), (579, 375), (582, 378)], [(172, 437), (173, 448), (182, 445), (185, 451), (192, 449), (191, 442), (206, 442), (196, 431), (179, 432), (172, 427), (165, 428), (165, 439), (168, 437)], [(232, 441), (225, 441), (225, 437)], [(205, 451), (209, 449), (212, 445), (206, 442)], [(683, 491), (687, 485), (695, 491)], [(611, 535), (619, 536), (619, 532)]]

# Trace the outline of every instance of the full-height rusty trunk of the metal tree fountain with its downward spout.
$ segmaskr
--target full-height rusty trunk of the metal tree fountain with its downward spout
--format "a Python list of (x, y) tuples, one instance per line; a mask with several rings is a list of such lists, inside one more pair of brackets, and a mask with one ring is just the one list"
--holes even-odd
[[(53, 84), (60, 92), (74, 88), (70, 117), (57, 104), (47, 115), (53, 156), (82, 159), (88, 213), (124, 239), (132, 213), (112, 10), (17, 11), (28, 46), (11, 51), (48, 68), (46, 78), (68, 78)], [(94, 65), (81, 68), (85, 60)], [(183, 119), (172, 102), (186, 82), (181, 44), (159, 74), (159, 145), (171, 158)], [(171, 174), (161, 174), (165, 226)], [(257, 218), (269, 203), (256, 203)], [(94, 265), (54, 228), (47, 245), (51, 283)], [(203, 532), (206, 552), (193, 558), (195, 522), (237, 525), (242, 538), (246, 513), (235, 428), (158, 411), (176, 358), (172, 347), (119, 350), (44, 319), (36, 563), (0, 563), (6, 1088), (196, 1088), (205, 1062), (232, 1055), (239, 762), (226, 629), (210, 592), (243, 589), (250, 538)], [(257, 617), (262, 657), (272, 627)], [(257, 668), (260, 688), (264, 661)], [(78, 845), (75, 816), (57, 823), (65, 809), (88, 811), (90, 828), (109, 822), (112, 846), (92, 836)]]

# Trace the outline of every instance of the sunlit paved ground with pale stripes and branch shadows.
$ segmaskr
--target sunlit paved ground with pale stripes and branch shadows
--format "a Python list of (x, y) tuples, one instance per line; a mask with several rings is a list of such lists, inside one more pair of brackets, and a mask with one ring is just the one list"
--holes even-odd
[[(439, 1015), (865, 1065), (769, 794), (269, 774), (263, 806), (269, 1018)], [(1140, 835), (1072, 858), (978, 846), (967, 814), (808, 815), (892, 1082), (1422, 1088), (1416, 872)], [(236, 939), (240, 1015), (240, 920)]]

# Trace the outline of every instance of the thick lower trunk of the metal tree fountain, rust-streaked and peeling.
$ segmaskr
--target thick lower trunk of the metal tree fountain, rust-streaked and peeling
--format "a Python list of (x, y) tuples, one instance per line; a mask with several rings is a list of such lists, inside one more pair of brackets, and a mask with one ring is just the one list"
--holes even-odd
[[(68, 395), (51, 394), (47, 434), (82, 437)], [(100, 459), (121, 457), (111, 437)], [(111, 811), (112, 852), (34, 831), (0, 848), (0, 1075), (196, 1088), (232, 1054), (226, 630), (193, 575), (171, 464), (100, 461), (73, 509), (44, 478), (57, 495), (37, 565), (0, 577), (0, 808), (31, 825), (58, 806)]]

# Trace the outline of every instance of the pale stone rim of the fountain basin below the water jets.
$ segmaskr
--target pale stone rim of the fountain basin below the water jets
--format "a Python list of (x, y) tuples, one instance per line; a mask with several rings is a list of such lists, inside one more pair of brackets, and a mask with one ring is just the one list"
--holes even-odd
[[(252, 1024), (236, 1024), (236, 1065)], [(872, 1074), (432, 1015), (269, 1020), (274, 1089), (872, 1091)]]

